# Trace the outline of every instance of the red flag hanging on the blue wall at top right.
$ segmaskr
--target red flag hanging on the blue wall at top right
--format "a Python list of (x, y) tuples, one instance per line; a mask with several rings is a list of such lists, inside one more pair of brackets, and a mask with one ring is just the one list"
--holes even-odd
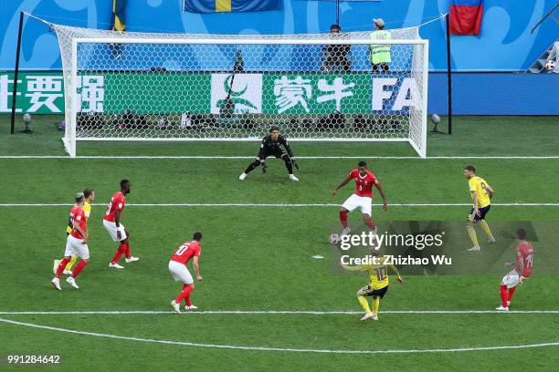
[(483, 0), (452, 0), (450, 3), (450, 33), (480, 35)]

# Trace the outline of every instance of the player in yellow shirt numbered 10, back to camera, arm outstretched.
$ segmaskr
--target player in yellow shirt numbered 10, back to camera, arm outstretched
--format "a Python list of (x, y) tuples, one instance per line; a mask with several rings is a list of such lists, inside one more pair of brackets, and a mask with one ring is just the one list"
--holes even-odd
[[(398, 269), (393, 264), (385, 264), (388, 257), (386, 256), (373, 256), (374, 262), (372, 264), (358, 264), (355, 266), (348, 266), (342, 264), (345, 270), (349, 271), (366, 271), (369, 273), (370, 281), (359, 291), (357, 291), (357, 300), (364, 308), (365, 315), (361, 318), (362, 321), (367, 319), (378, 320), (378, 308), (380, 300), (388, 292), (388, 269), (392, 270), (398, 275), (397, 282), (402, 284), (404, 280), (400, 276)], [(373, 297), (373, 311), (369, 307), (369, 302), (365, 297)]]

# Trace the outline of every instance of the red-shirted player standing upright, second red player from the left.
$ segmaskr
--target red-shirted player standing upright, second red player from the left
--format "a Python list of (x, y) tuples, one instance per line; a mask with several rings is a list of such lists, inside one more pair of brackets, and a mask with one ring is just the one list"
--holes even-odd
[(121, 181), (121, 191), (116, 192), (112, 195), (111, 202), (107, 206), (107, 212), (105, 212), (105, 217), (103, 218), (103, 226), (107, 229), (107, 232), (111, 235), (114, 242), (119, 242), (119, 249), (117, 253), (112, 257), (109, 267), (113, 269), (123, 269), (124, 266), (119, 264), (119, 260), (122, 254), (126, 256), (126, 263), (133, 263), (138, 261), (138, 257), (132, 257), (130, 253), (130, 241), (129, 233), (121, 224), (122, 211), (126, 205), (125, 195), (130, 193), (131, 183), (128, 180)]

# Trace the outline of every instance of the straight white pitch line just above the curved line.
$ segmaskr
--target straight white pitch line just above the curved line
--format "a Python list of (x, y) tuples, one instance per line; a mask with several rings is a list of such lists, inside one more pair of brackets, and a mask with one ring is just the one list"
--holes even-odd
[[(171, 310), (84, 310), (84, 311), (1, 311), (0, 315), (159, 315)], [(182, 313), (186, 315), (361, 315), (347, 310), (206, 310)], [(497, 310), (386, 310), (383, 314), (502, 314)], [(559, 314), (559, 310), (512, 310), (507, 314)]]

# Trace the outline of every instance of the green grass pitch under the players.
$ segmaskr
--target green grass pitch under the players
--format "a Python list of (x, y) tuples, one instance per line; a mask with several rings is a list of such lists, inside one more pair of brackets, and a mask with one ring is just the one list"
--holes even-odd
[[(60, 117), (34, 117), (31, 135), (9, 132), (0, 117), (0, 155), (64, 155)], [(20, 119), (18, 119), (18, 122)], [(21, 129), (21, 128), (16, 128)], [(556, 118), (469, 117), (455, 120), (452, 136), (430, 136), (428, 156), (559, 156)], [(79, 143), (78, 155), (253, 156), (256, 143)], [(499, 203), (559, 203), (559, 159), (373, 159), (414, 156), (406, 144), (293, 143), (299, 156), (363, 156), (383, 182), (391, 203), (469, 202), (461, 170), (469, 163), (497, 191), (489, 222), (556, 222), (557, 206)], [(270, 160), (269, 174), (257, 170), (237, 180), (250, 160), (185, 159), (9, 159), (0, 158), (0, 368), (7, 355), (58, 354), (61, 371), (556, 371), (559, 346), (428, 353), (312, 353), (255, 348), (316, 350), (437, 350), (524, 346), (559, 342), (559, 314), (422, 314), (414, 310), (491, 310), (499, 304), (501, 276), (409, 275), (391, 281), (380, 321), (360, 314), (174, 315), (177, 294), (167, 262), (197, 230), (205, 234), (202, 283), (192, 295), (201, 310), (355, 311), (354, 293), (364, 275), (332, 273), (327, 242), (337, 223), (335, 207), (157, 207), (131, 205), (122, 222), (131, 233), (138, 263), (123, 271), (107, 268), (116, 246), (104, 231), (104, 204), (129, 178), (128, 202), (144, 203), (342, 203), (348, 185), (332, 200), (330, 191), (356, 160), (300, 160), (300, 182), (287, 179), (283, 163)], [(70, 203), (75, 191), (96, 190), (90, 217), (90, 264), (79, 290), (49, 281), (52, 260), (64, 250), (66, 206), (5, 204)], [(378, 200), (377, 200), (378, 201)], [(374, 207), (374, 219), (462, 222), (466, 206)], [(358, 222), (356, 213), (350, 215)], [(481, 234), (480, 234), (481, 236)], [(469, 242), (464, 242), (464, 249)], [(556, 247), (538, 247), (536, 249)], [(537, 251), (536, 251), (537, 252)], [(315, 254), (324, 256), (313, 259)], [(510, 257), (512, 258), (512, 252)], [(537, 256), (536, 256), (537, 257)], [(559, 274), (559, 267), (556, 268)], [(505, 269), (503, 268), (503, 274)], [(538, 275), (517, 291), (514, 310), (559, 310), (559, 283)], [(155, 311), (165, 314), (74, 315), (6, 312)], [(409, 314), (383, 313), (411, 310)], [(57, 329), (53, 329), (57, 328)], [(62, 332), (59, 329), (79, 331)], [(114, 338), (121, 336), (124, 338)], [(147, 340), (147, 341), (146, 341)], [(157, 341), (172, 341), (161, 343)], [(183, 344), (181, 344), (183, 343)], [(253, 349), (189, 346), (246, 346)], [(32, 370), (32, 369), (29, 369)], [(52, 369), (55, 370), (55, 369)]]

